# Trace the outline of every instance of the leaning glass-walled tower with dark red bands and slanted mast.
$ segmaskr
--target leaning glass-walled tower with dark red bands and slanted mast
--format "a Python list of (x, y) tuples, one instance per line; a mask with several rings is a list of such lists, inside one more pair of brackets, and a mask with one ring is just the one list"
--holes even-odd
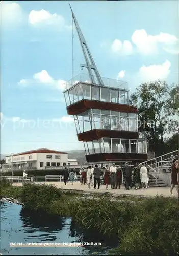
[[(71, 6), (70, 6), (71, 8)], [(78, 140), (88, 163), (147, 160), (147, 143), (139, 138), (137, 108), (129, 105), (127, 82), (100, 76), (71, 9), (88, 74), (64, 84), (68, 115), (73, 115)]]

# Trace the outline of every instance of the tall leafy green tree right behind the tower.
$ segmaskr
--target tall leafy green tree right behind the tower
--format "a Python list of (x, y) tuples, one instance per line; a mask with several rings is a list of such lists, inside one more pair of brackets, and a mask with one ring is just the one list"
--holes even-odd
[(171, 104), (175, 92), (165, 81), (158, 80), (142, 83), (131, 95), (130, 103), (138, 108), (139, 131), (149, 140), (149, 150), (158, 154), (163, 153), (171, 110), (177, 108), (175, 100)]

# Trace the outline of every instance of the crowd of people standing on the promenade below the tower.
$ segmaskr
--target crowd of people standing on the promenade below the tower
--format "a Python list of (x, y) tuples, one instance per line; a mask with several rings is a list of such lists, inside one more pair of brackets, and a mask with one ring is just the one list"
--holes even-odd
[[(149, 170), (147, 167), (143, 165), (134, 165), (129, 166), (128, 163), (125, 163), (123, 168), (118, 165), (113, 164), (111, 167), (106, 165), (106, 167), (99, 168), (96, 164), (93, 166), (88, 166), (87, 168), (81, 168), (80, 172), (80, 183), (82, 185), (87, 184), (90, 189), (93, 187), (94, 189), (100, 188), (101, 184), (106, 185), (106, 189), (111, 185), (111, 189), (120, 189), (122, 182), (125, 185), (126, 190), (130, 190), (130, 188), (135, 188), (136, 190), (147, 189), (149, 187)], [(123, 177), (123, 179), (122, 179)], [(66, 185), (67, 182), (76, 182), (78, 180), (78, 174), (74, 172), (72, 169), (68, 172), (67, 168), (64, 171), (64, 183)]]

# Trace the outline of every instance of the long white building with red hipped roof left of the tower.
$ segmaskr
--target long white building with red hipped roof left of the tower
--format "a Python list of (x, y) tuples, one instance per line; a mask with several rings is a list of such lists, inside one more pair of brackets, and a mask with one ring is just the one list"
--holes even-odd
[(50, 167), (66, 166), (78, 164), (77, 160), (69, 159), (68, 153), (48, 150), (47, 148), (40, 148), (38, 150), (26, 151), (18, 154), (13, 154), (5, 157), (6, 163), (3, 169), (50, 169)]

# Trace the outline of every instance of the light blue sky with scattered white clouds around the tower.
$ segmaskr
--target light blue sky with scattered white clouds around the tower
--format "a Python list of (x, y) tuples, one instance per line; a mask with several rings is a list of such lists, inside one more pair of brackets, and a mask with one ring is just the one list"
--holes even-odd
[[(178, 1), (69, 1), (102, 77), (178, 83)], [(1, 2), (1, 154), (83, 149), (63, 84), (85, 63), (66, 1)], [(74, 71), (72, 72), (72, 31)]]

